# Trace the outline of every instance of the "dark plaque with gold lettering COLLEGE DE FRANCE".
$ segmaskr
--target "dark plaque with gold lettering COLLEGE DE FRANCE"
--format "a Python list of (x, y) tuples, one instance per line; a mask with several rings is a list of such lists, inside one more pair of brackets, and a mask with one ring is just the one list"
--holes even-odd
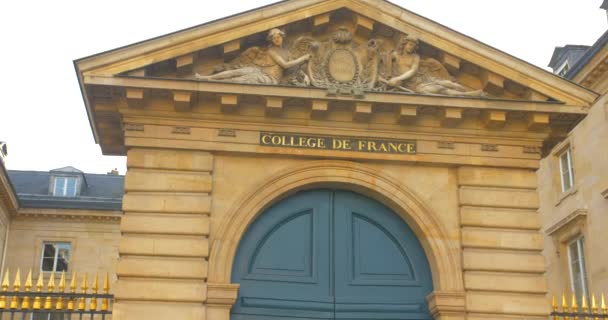
[(336, 151), (416, 154), (416, 142), (357, 137), (327, 137), (262, 132), (260, 145), (284, 148), (305, 148)]

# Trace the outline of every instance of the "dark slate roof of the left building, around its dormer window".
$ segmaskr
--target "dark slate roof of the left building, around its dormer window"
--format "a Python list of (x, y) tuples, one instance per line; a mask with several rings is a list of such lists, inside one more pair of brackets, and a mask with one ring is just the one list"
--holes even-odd
[(86, 183), (79, 196), (57, 197), (49, 192), (49, 181), (53, 171), (8, 170), (9, 179), (21, 207), (121, 210), (124, 176), (83, 173)]

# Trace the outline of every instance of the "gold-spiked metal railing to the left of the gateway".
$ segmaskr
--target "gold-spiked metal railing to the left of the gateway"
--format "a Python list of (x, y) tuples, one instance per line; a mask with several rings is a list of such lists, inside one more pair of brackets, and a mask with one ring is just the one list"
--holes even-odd
[[(99, 291), (99, 277), (95, 275), (89, 290), (88, 275), (82, 277), (80, 288), (77, 288), (77, 275), (72, 278), (66, 287), (65, 272), (55, 286), (55, 273), (51, 273), (46, 290), (44, 288), (43, 274), (38, 277), (36, 285), (32, 285), (32, 270), (28, 272), (23, 286), (21, 285), (20, 271), (17, 270), (13, 286), (10, 288), (10, 275), (7, 270), (2, 280), (0, 292), (0, 320), (109, 320), (112, 314), (111, 303), (114, 295), (110, 292), (110, 279), (106, 274), (103, 293)], [(57, 288), (57, 290), (55, 290)], [(68, 290), (66, 292), (66, 289)], [(79, 289), (78, 293), (76, 292)], [(98, 304), (98, 302), (100, 302)]]

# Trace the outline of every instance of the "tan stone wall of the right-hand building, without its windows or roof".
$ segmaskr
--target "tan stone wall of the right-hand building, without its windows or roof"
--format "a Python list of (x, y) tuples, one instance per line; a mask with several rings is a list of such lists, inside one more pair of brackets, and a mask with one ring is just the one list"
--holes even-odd
[[(549, 291), (569, 293), (567, 243), (585, 237), (589, 293), (608, 292), (608, 97), (599, 99), (585, 118), (541, 161), (538, 170), (540, 212), (545, 232)], [(559, 158), (570, 147), (574, 186), (561, 190)]]

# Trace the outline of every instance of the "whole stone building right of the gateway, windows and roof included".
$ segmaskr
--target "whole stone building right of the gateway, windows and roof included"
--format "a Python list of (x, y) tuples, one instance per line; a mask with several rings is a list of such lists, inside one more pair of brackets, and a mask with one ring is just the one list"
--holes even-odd
[(608, 291), (607, 43), (608, 33), (565, 74), (600, 97), (538, 170), (547, 279), (556, 295), (575, 292), (589, 297)]

